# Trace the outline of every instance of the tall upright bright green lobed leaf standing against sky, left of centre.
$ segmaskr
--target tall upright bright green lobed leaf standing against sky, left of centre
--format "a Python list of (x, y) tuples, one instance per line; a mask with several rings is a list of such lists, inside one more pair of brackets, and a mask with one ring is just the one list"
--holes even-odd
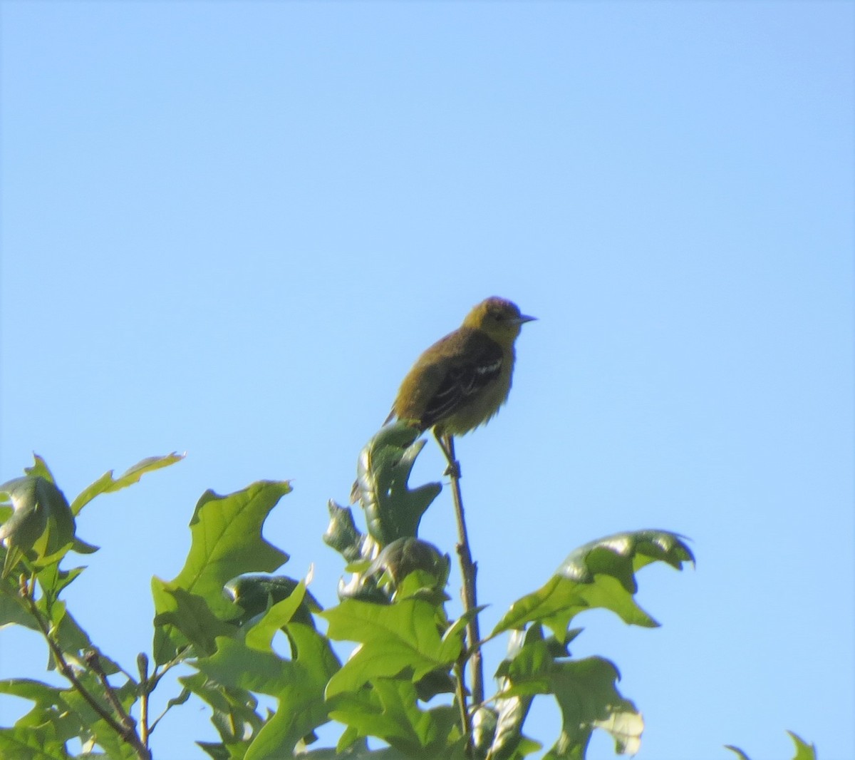
[[(190, 521), (192, 543), (181, 572), (169, 582), (151, 581), (156, 615), (176, 612), (174, 592), (183, 590), (201, 597), (219, 620), (238, 616), (239, 610), (223, 595), (223, 586), (238, 575), (268, 573), (288, 561), (285, 552), (264, 540), (262, 525), (290, 491), (287, 482), (274, 481), (261, 481), (228, 496), (206, 491)], [(189, 638), (174, 625), (157, 626), (156, 662), (168, 662), (187, 643)]]

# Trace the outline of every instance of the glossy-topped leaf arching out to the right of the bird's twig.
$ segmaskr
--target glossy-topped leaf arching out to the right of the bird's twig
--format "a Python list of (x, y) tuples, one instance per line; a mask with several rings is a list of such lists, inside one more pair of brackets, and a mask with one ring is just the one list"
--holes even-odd
[(633, 599), (634, 573), (653, 561), (681, 569), (694, 561), (681, 538), (667, 531), (634, 531), (600, 538), (575, 549), (538, 591), (510, 606), (491, 638), (529, 623), (542, 622), (565, 640), (571, 620), (585, 609), (610, 609), (624, 622), (657, 626)]

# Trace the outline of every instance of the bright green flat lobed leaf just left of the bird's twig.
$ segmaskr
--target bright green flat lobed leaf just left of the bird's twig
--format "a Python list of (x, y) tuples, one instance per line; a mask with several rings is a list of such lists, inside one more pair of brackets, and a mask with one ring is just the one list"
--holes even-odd
[(391, 604), (347, 599), (320, 614), (328, 635), (362, 644), (327, 686), (327, 696), (356, 691), (369, 681), (394, 678), (404, 670), (417, 681), (439, 668), (450, 668), (463, 650), (460, 632), (441, 638), (437, 608), (423, 599)]

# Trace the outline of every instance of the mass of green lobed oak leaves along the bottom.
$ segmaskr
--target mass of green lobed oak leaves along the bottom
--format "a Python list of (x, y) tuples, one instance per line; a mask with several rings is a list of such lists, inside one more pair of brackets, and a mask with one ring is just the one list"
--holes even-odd
[[(207, 707), (217, 740), (198, 745), (215, 760), (522, 760), (544, 746), (523, 732), (535, 699), (553, 700), (562, 717), (548, 760), (581, 760), (595, 730), (609, 733), (618, 753), (638, 751), (644, 723), (617, 688), (616, 666), (572, 656), (569, 645), (581, 634), (575, 618), (598, 608), (656, 626), (635, 602), (636, 573), (657, 561), (678, 570), (693, 562), (685, 541), (650, 530), (587, 543), (539, 589), (510, 603), (486, 638), (470, 641), (467, 624), (479, 610), (455, 616), (449, 609), (450, 557), (418, 537), (440, 486), (410, 488), (424, 445), (416, 437), (406, 425), (390, 425), (363, 449), (356, 495), (364, 531), (351, 506), (329, 503), (323, 539), (342, 556), (344, 575), (328, 609), (308, 591), (310, 579), (275, 574), (288, 555), (262, 536), (290, 484), (203, 494), (184, 567), (173, 579), (151, 581), (153, 638), (135, 674), (98, 650), (70, 615), (62, 592), (84, 568), (60, 566), (97, 550), (76, 533), (91, 499), (180, 456), (144, 460), (119, 478), (108, 472), (70, 504), (37, 457), (25, 477), (0, 486), (0, 626), (26, 626), (44, 638), (50, 667), (67, 685), (0, 681), (0, 693), (32, 703), (14, 726), (0, 728), (0, 757), (150, 758), (163, 716), (149, 714), (158, 686), (175, 689), (167, 712), (190, 699)], [(467, 668), (499, 638), (506, 654), (495, 691), (473, 704)], [(179, 664), (190, 674), (164, 681)], [(317, 748), (315, 731), (330, 723), (336, 745)], [(78, 755), (68, 749), (73, 739)]]

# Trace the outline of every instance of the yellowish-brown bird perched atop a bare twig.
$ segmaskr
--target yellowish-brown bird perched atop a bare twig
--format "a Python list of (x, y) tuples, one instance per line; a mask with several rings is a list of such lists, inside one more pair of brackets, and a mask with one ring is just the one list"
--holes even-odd
[(433, 428), (440, 441), (486, 423), (508, 399), (514, 341), (533, 319), (510, 300), (481, 301), (416, 360), (386, 422), (412, 420), (419, 430)]

